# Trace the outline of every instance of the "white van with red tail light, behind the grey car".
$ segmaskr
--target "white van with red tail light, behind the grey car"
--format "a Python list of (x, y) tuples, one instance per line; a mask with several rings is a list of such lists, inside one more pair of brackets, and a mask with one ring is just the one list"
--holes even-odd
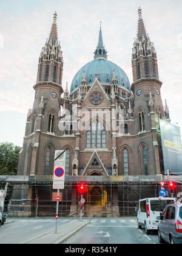
[(144, 227), (147, 235), (151, 230), (157, 230), (156, 218), (160, 216), (167, 204), (176, 200), (175, 197), (151, 197), (139, 200), (139, 206), (136, 207), (138, 229)]

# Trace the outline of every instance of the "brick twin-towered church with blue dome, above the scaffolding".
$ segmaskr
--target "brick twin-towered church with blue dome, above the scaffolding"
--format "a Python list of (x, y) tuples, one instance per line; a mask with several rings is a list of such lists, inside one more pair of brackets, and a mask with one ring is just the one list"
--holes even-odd
[(163, 173), (158, 129), (159, 119), (169, 121), (169, 109), (166, 102), (163, 107), (157, 52), (140, 8), (131, 54), (132, 84), (124, 70), (107, 58), (100, 26), (93, 60), (73, 74), (68, 90), (68, 84), (62, 85), (64, 62), (54, 14), (49, 39), (39, 55), (19, 176), (53, 176), (55, 150), (66, 151), (66, 176)]

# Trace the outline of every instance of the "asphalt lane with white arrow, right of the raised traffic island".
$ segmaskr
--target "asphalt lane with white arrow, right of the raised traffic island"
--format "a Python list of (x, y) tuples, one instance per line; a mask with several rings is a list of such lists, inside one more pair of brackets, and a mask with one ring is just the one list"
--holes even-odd
[(146, 235), (136, 227), (136, 219), (89, 219), (84, 229), (79, 230), (63, 244), (158, 244), (157, 232)]

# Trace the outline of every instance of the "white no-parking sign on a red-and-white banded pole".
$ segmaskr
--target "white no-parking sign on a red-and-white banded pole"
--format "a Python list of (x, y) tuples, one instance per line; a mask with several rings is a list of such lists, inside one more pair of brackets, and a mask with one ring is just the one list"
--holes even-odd
[(59, 212), (59, 190), (64, 189), (64, 179), (65, 179), (65, 162), (66, 162), (66, 151), (56, 150), (55, 151), (55, 165), (54, 165), (54, 175), (53, 175), (53, 190), (57, 191), (57, 204), (56, 204), (56, 228), (55, 233), (57, 233), (58, 227), (58, 212)]

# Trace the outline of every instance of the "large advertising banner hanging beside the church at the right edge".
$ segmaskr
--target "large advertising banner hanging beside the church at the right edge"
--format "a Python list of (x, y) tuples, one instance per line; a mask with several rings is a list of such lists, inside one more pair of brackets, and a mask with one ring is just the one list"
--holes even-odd
[(182, 146), (180, 127), (160, 119), (164, 173), (182, 173)]

